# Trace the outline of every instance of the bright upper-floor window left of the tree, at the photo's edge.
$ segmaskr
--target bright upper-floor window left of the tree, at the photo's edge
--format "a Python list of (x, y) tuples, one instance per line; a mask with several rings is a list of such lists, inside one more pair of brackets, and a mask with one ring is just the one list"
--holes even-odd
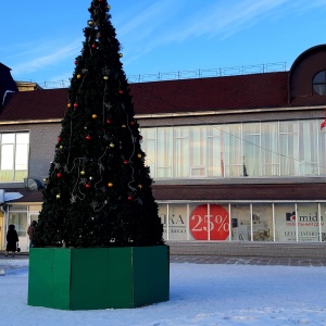
[(0, 181), (23, 181), (28, 176), (28, 133), (0, 134)]

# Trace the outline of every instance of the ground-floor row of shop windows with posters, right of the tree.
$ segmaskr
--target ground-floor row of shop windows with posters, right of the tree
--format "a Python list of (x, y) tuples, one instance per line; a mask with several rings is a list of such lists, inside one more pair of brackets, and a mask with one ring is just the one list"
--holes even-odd
[(159, 209), (165, 240), (326, 241), (326, 201), (160, 202)]

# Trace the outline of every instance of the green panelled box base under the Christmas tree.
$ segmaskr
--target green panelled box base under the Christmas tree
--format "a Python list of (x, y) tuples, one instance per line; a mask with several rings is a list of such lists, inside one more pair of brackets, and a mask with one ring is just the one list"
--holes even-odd
[(29, 305), (96, 310), (168, 299), (168, 246), (30, 249)]

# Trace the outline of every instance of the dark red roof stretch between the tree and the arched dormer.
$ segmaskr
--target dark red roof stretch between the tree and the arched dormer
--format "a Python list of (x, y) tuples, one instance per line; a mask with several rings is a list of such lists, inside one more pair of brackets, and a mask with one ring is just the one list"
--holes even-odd
[(288, 106), (288, 73), (130, 85), (138, 114)]

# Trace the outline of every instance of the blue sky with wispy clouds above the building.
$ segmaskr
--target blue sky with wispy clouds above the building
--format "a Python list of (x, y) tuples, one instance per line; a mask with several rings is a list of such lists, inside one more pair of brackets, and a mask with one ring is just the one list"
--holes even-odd
[[(90, 2), (1, 1), (0, 62), (16, 80), (67, 80)], [(304, 50), (326, 43), (326, 0), (109, 3), (127, 76), (277, 62), (289, 70)]]

